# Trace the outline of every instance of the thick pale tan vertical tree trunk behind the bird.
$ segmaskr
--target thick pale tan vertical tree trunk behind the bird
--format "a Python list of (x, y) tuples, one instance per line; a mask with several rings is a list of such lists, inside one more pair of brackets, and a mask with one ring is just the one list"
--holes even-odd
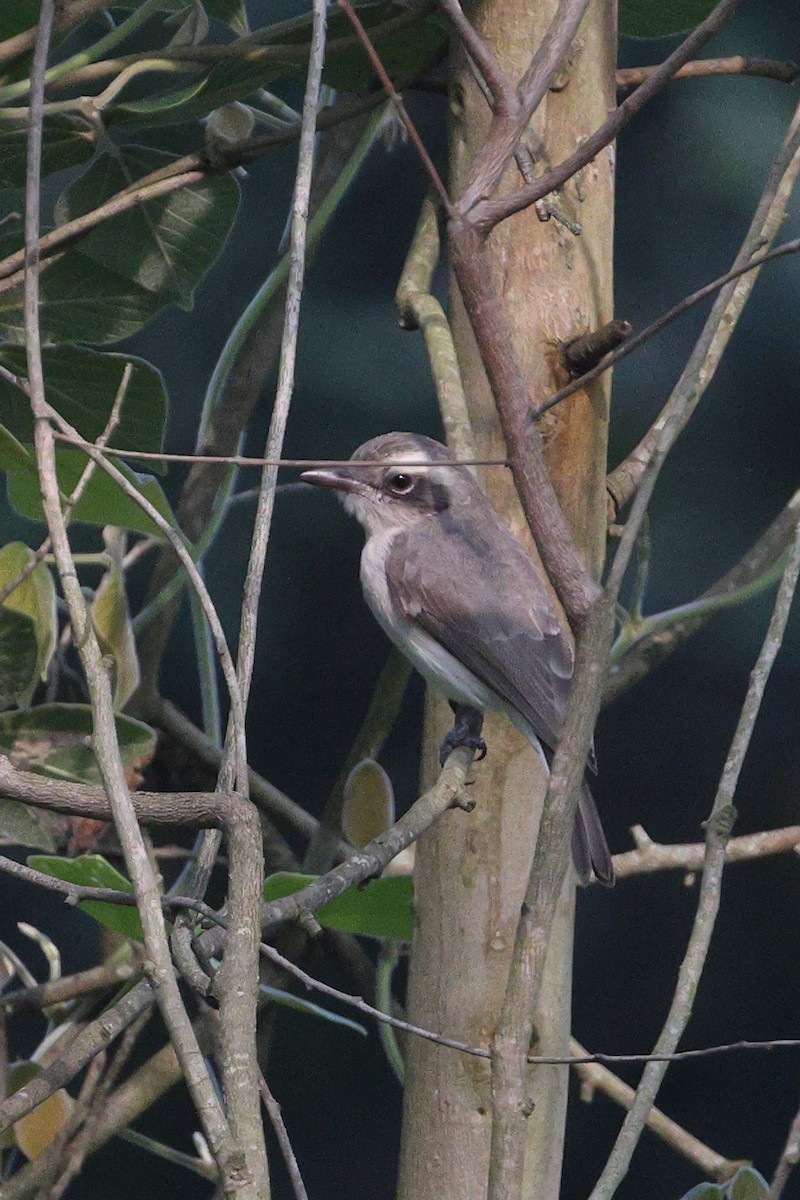
[[(555, 11), (555, 0), (486, 0), (468, 16), (512, 83), (517, 83)], [(570, 154), (614, 103), (614, 0), (593, 0), (566, 70), (534, 116), (530, 149), (537, 173)], [(458, 196), (486, 139), (488, 109), (463, 56), (451, 90), (451, 194)], [(519, 184), (516, 164), (504, 188)], [(581, 236), (529, 209), (491, 236), (494, 286), (511, 322), (534, 403), (564, 383), (558, 344), (612, 314), (613, 151), (606, 151), (549, 198)], [(480, 456), (503, 457), (497, 412), (457, 288), (451, 319)], [(576, 541), (600, 572), (606, 522), (607, 383), (579, 392), (543, 422), (548, 466)], [(485, 470), (482, 482), (506, 523), (530, 546), (511, 474)], [(449, 710), (428, 706), (426, 770)], [(409, 1019), (488, 1046), (503, 1001), (519, 902), (525, 888), (545, 779), (537, 755), (506, 721), (485, 725), (489, 754), (476, 768), (473, 814), (449, 814), (417, 847), (417, 929), (409, 982)], [(566, 1054), (573, 920), (570, 880), (548, 952), (536, 1028), (542, 1054)], [(567, 1072), (531, 1072), (534, 1112), (527, 1123), (525, 1196), (559, 1193)], [(408, 1046), (402, 1200), (481, 1200), (489, 1147), (489, 1070), (486, 1060), (411, 1038)]]

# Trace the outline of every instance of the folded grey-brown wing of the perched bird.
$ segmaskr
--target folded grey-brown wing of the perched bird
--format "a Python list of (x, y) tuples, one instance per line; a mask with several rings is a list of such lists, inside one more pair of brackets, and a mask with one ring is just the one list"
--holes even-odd
[(469, 520), (445, 510), (395, 538), (389, 592), (533, 727), (555, 744), (573, 655), (546, 586), (487, 505)]

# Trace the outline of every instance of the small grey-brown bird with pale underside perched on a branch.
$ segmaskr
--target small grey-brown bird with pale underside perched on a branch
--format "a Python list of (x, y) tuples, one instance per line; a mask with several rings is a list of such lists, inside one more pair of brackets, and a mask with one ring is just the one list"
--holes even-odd
[[(469, 468), (453, 464), (433, 438), (396, 432), (365, 442), (347, 464), (300, 478), (335, 490), (363, 527), (367, 605), (456, 710), (443, 754), (459, 733), (470, 740), (470, 710), (501, 712), (549, 763), (575, 668), (572, 638), (541, 566), (500, 521)], [(480, 738), (470, 744), (485, 750)], [(596, 769), (594, 749), (587, 767)], [(610, 852), (585, 779), (572, 859), (582, 883), (594, 870), (601, 883), (613, 884)]]

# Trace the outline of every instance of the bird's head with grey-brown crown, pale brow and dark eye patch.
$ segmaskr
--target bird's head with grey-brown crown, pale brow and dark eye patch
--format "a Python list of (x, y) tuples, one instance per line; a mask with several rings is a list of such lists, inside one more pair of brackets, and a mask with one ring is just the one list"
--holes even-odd
[(446, 466), (452, 454), (417, 433), (384, 433), (359, 446), (344, 467), (305, 470), (300, 476), (339, 493), (367, 533), (408, 527), (443, 512), (476, 485), (469, 470)]

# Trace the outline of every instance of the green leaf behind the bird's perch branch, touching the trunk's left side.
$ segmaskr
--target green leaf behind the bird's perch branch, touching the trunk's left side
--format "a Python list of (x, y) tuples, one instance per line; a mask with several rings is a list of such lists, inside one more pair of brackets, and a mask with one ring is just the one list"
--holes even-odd
[[(300, 892), (318, 878), (278, 871), (264, 883), (264, 899), (278, 900)], [(320, 925), (345, 934), (369, 937), (397, 937), (410, 941), (414, 932), (414, 884), (408, 875), (369, 880), (363, 887), (348, 888), (336, 900), (318, 908)]]

